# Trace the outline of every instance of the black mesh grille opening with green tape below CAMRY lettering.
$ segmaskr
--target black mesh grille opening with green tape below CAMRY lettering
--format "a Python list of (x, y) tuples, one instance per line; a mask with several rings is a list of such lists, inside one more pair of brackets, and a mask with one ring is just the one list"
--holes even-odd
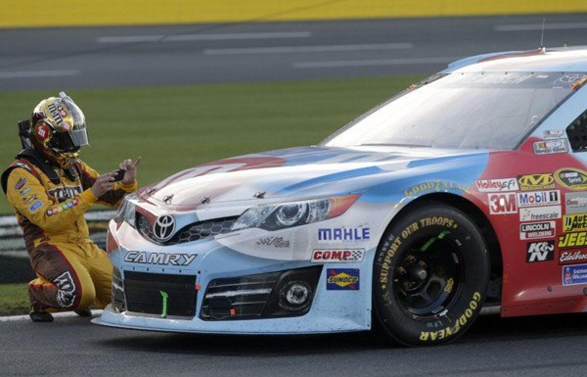
[(124, 271), (124, 294), (128, 311), (163, 314), (162, 292), (167, 294), (167, 315), (195, 315), (195, 275)]

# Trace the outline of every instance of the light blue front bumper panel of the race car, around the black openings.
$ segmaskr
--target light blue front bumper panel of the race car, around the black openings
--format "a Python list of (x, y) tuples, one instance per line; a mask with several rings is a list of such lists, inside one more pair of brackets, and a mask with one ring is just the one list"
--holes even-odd
[[(227, 237), (211, 238), (210, 240), (195, 243), (179, 244), (169, 247), (157, 247), (150, 243), (139, 242), (140, 235), (128, 225), (119, 225), (111, 222), (109, 225), (111, 237), (116, 242), (116, 248), (110, 251), (110, 258), (115, 268), (122, 272), (123, 284), (126, 271), (144, 272), (147, 274), (177, 274), (195, 276), (195, 284), (199, 288), (195, 295), (195, 315), (191, 317), (167, 316), (161, 318), (156, 314), (144, 314), (130, 311), (117, 311), (112, 305), (104, 309), (100, 318), (93, 320), (95, 324), (119, 328), (142, 329), (168, 332), (198, 332), (209, 334), (315, 334), (321, 332), (348, 332), (363, 331), (371, 326), (371, 286), (372, 265), (375, 248), (369, 244), (348, 245), (348, 247), (363, 247), (365, 255), (360, 262), (324, 263), (316, 264), (310, 261), (312, 245), (298, 245), (297, 250), (280, 250), (271, 246), (273, 250), (265, 250), (262, 256), (250, 255), (246, 252), (255, 240), (263, 234), (249, 232), (248, 235), (229, 235)], [(299, 230), (296, 230), (299, 231)], [(312, 230), (313, 231), (313, 230)], [(306, 231), (307, 232), (307, 231)], [(280, 236), (289, 240), (299, 238), (299, 234), (284, 233)], [(307, 235), (306, 235), (306, 238)], [(144, 240), (143, 240), (144, 241)], [(258, 246), (258, 245), (257, 245)], [(239, 249), (245, 250), (245, 252)], [(302, 258), (299, 248), (309, 248), (307, 255)], [(328, 247), (328, 245), (319, 245)], [(369, 248), (370, 247), (370, 248)], [(267, 249), (267, 248), (265, 248)], [(145, 253), (174, 253), (197, 256), (187, 266), (157, 265), (144, 262), (129, 261), (130, 251)], [(237, 251), (239, 250), (239, 251)], [(267, 258), (273, 252), (276, 258)], [(136, 254), (131, 254), (136, 255)], [(279, 257), (277, 257), (279, 255)], [(285, 257), (284, 257), (285, 255)], [(292, 257), (294, 255), (294, 257)], [(136, 258), (134, 258), (136, 260)], [(313, 299), (309, 310), (297, 317), (254, 318), (254, 319), (205, 319), (201, 317), (205, 292), (211, 281), (221, 278), (237, 278), (268, 272), (289, 271), (305, 267), (321, 266), (318, 283), (313, 292)], [(340, 271), (358, 271), (359, 287), (355, 290), (332, 290), (328, 285), (328, 277)], [(330, 287), (328, 289), (327, 287)], [(336, 288), (336, 287), (335, 287)], [(294, 314), (295, 315), (295, 314)]]

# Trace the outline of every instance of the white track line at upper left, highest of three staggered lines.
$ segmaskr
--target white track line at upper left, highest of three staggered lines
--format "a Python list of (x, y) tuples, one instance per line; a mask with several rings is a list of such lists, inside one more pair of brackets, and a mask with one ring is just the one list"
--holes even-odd
[(214, 34), (180, 34), (180, 35), (129, 35), (101, 36), (98, 43), (130, 42), (186, 42), (186, 41), (230, 41), (237, 39), (281, 39), (309, 38), (311, 32), (265, 32), (265, 33), (214, 33)]

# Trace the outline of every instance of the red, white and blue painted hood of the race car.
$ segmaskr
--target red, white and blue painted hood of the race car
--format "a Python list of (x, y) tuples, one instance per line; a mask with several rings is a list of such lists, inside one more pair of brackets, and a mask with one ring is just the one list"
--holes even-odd
[(349, 193), (369, 187), (375, 177), (383, 174), (484, 153), (389, 146), (296, 147), (186, 169), (144, 188), (140, 196), (161, 206), (191, 210), (227, 201)]

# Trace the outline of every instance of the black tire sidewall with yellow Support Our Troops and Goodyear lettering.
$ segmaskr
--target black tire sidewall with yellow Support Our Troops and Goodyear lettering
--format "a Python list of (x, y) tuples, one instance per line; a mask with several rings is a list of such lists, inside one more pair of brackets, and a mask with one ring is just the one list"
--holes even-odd
[[(461, 281), (443, 315), (411, 317), (393, 292), (394, 270), (410, 243), (443, 231), (455, 241), (461, 260)], [(464, 213), (447, 206), (413, 211), (391, 225), (377, 248), (373, 265), (373, 306), (380, 328), (404, 345), (430, 346), (457, 339), (481, 311), (489, 280), (487, 246), (477, 226)]]

